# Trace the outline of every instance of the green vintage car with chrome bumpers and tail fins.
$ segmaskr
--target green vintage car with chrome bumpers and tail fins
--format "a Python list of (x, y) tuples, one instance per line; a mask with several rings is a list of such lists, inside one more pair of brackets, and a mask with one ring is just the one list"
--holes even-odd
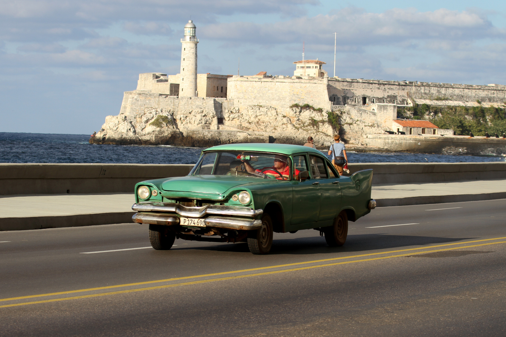
[(171, 249), (176, 238), (247, 242), (253, 254), (271, 250), (273, 232), (316, 229), (342, 246), (348, 220), (376, 207), (372, 170), (339, 176), (309, 147), (230, 144), (202, 151), (184, 177), (135, 186), (134, 222), (149, 224), (151, 246)]

